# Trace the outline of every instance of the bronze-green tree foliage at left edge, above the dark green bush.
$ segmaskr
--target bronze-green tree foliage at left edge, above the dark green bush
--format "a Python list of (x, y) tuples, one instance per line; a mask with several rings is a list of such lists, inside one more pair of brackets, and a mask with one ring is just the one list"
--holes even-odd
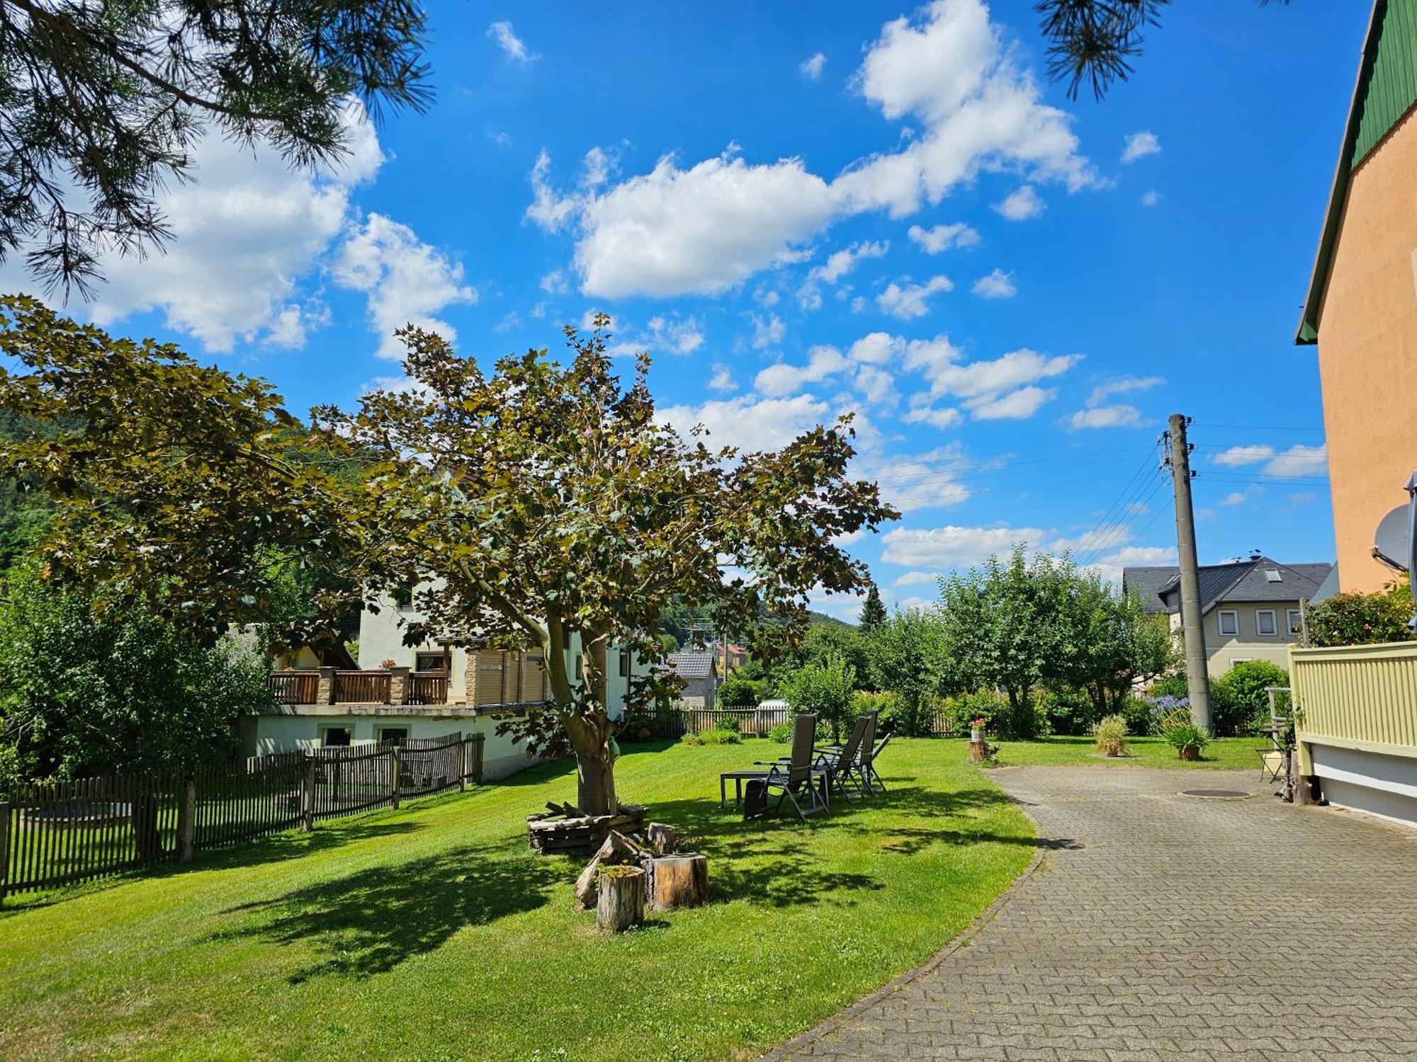
[[(343, 565), (315, 592), (295, 640), (347, 616), (363, 537), (363, 455), (310, 433), (259, 379), (198, 365), (170, 344), (112, 338), (33, 299), (0, 299), (0, 413), (17, 425), (0, 472), (48, 497), (45, 578), (103, 613), (139, 602), (208, 643), (234, 624), (281, 616), (292, 582)], [(290, 457), (299, 438), (302, 457)]]

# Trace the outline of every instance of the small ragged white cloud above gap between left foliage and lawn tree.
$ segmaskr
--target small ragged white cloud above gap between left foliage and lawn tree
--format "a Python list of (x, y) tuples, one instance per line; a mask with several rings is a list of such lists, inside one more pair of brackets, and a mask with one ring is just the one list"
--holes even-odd
[(404, 324), (455, 340), (453, 327), (435, 314), (453, 303), (478, 302), (476, 289), (462, 282), (462, 263), (383, 214), (370, 214), (350, 232), (332, 273), (340, 285), (368, 296), (370, 324), (384, 358), (402, 357), (404, 346), (393, 333)]

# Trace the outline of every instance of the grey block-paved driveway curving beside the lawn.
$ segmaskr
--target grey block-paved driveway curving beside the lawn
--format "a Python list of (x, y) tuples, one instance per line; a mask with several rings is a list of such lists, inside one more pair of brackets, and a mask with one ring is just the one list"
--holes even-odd
[[(1417, 1058), (1417, 833), (1248, 772), (993, 777), (1037, 823), (1037, 868), (968, 944), (784, 1056)], [(1253, 796), (1178, 794), (1199, 787)]]

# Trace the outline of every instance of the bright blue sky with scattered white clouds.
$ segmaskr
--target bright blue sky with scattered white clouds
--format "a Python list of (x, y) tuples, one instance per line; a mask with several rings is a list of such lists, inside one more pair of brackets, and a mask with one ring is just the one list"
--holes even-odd
[(905, 515), (850, 548), (900, 603), (1020, 538), (1169, 562), (1176, 411), (1202, 562), (1329, 559), (1291, 340), (1366, 16), (1178, 4), (1097, 103), (1043, 76), (1032, 3), (436, 4), (428, 113), (351, 116), (339, 173), (204, 143), (169, 252), (69, 309), (292, 409), (397, 382), (405, 320), (490, 360), (604, 310), (679, 425), (856, 411)]

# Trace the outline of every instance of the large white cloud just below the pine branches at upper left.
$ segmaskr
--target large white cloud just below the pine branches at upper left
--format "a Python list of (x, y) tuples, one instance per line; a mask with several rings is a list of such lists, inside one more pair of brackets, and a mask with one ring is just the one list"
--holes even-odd
[(364, 109), (343, 115), (349, 154), (292, 173), (276, 152), (255, 154), (218, 133), (193, 147), (197, 180), (157, 195), (173, 238), (145, 259), (109, 256), (89, 316), (105, 327), (162, 310), (166, 327), (213, 351), (239, 341), (299, 347), (326, 320), (299, 286), (350, 219), (350, 191), (384, 161)]

